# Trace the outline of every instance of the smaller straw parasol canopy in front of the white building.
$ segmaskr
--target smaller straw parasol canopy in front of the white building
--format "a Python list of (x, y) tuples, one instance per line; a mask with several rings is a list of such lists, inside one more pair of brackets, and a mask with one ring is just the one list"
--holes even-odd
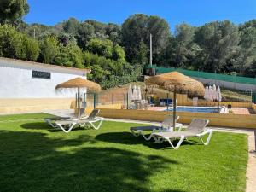
[(90, 92), (99, 92), (101, 90), (100, 84), (96, 84), (90, 80), (83, 78), (68, 80), (62, 84), (58, 84), (55, 89), (61, 88), (87, 88), (87, 90)]

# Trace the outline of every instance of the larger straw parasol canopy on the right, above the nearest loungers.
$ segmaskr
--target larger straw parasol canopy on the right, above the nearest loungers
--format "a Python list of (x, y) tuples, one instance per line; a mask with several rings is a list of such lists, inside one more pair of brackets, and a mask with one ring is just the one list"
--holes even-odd
[(189, 96), (203, 97), (205, 93), (204, 85), (201, 82), (178, 72), (155, 75), (146, 79), (145, 83), (170, 91), (173, 91), (174, 85), (176, 85), (178, 92), (187, 93)]

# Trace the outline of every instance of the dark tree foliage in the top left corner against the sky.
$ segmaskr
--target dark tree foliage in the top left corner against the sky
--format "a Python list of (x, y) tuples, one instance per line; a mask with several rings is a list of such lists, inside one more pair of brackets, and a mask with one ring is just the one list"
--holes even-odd
[(22, 20), (29, 11), (26, 0), (1, 0), (0, 1), (0, 23), (15, 24)]

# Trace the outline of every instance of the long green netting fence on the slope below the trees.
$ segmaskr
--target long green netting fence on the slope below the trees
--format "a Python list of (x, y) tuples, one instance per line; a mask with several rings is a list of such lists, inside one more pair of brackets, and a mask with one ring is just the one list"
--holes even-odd
[(155, 68), (156, 73), (168, 73), (168, 72), (177, 71), (189, 77), (195, 77), (195, 78), (216, 79), (216, 80), (222, 80), (222, 81), (228, 81), (228, 82), (234, 82), (234, 83), (240, 83), (240, 84), (256, 84), (256, 78), (246, 78), (246, 77), (235, 76), (235, 75), (232, 76), (232, 75), (225, 75), (225, 74), (219, 74), (219, 73), (191, 71), (183, 68), (174, 68), (174, 67), (169, 67), (169, 68), (157, 67), (156, 65), (153, 65), (153, 68)]

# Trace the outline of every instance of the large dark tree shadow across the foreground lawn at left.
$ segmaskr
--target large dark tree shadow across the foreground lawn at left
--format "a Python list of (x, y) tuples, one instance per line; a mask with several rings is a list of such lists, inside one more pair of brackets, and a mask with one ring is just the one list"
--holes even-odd
[[(150, 192), (154, 185), (149, 177), (177, 164), (125, 149), (81, 146), (93, 139), (84, 135), (65, 139), (38, 132), (0, 131), (1, 191)], [(163, 191), (182, 192), (168, 188)]]

